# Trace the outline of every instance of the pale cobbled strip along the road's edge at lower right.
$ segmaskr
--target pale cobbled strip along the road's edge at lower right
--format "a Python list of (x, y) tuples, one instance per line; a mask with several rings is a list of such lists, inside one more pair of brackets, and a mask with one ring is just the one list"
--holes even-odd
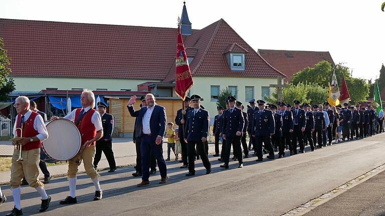
[(307, 201), (306, 203), (303, 203), (303, 204), (297, 206), (296, 208), (293, 208), (291, 210), (286, 211), (285, 213), (281, 214), (281, 216), (292, 216), (292, 215), (300, 216), (300, 215), (303, 215), (303, 214), (311, 211), (315, 207), (329, 201), (332, 198), (335, 198), (339, 194), (345, 192), (348, 189), (353, 188), (354, 186), (366, 181), (367, 179), (375, 176), (376, 174), (378, 174), (384, 170), (385, 170), (385, 163), (377, 166), (376, 168), (373, 168), (372, 170), (370, 170), (368, 172), (365, 172), (364, 174), (362, 174), (356, 178), (353, 178), (353, 179), (335, 187), (334, 189), (332, 189), (326, 193), (323, 193), (322, 195), (320, 195), (316, 198), (313, 198), (313, 199)]

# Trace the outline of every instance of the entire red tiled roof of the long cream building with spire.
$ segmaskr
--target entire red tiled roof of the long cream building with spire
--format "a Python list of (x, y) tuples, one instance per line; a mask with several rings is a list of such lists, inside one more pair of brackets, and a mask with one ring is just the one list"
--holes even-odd
[[(11, 76), (123, 78), (172, 81), (176, 28), (0, 18)], [(186, 36), (193, 75), (284, 76), (225, 20)], [(246, 50), (245, 71), (231, 71), (223, 52)]]

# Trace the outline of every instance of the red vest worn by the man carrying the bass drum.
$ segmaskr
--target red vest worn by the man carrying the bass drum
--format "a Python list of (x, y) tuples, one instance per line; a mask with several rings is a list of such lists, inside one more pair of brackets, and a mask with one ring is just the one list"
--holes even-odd
[[(75, 111), (75, 121), (78, 119), (78, 116), (80, 115), (80, 111), (82, 108), (77, 108)], [(75, 125), (78, 127), (80, 131), (80, 135), (82, 136), (82, 145), (84, 142), (93, 139), (96, 136), (96, 128), (94, 124), (91, 121), (92, 115), (94, 114), (96, 110), (91, 108), (86, 112), (86, 114), (83, 116), (83, 118), (80, 120), (78, 124), (75, 123)], [(92, 142), (91, 145), (95, 145), (95, 142)]]

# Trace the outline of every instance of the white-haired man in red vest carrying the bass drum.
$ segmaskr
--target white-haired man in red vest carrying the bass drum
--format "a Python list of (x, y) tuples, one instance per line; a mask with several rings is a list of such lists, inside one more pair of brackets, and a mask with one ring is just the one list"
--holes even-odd
[[(76, 173), (78, 172), (78, 166), (80, 163), (76, 163), (76, 159), (83, 159), (84, 169), (88, 176), (91, 177), (92, 182), (95, 185), (94, 200), (100, 200), (102, 198), (102, 189), (99, 184), (98, 173), (94, 168), (93, 160), (95, 157), (95, 143), (103, 136), (102, 119), (99, 112), (95, 107), (95, 95), (91, 90), (85, 89), (80, 96), (80, 103), (82, 108), (77, 108), (68, 113), (64, 118), (74, 121), (78, 127), (80, 134), (82, 135), (83, 152), (79, 151), (74, 158), (68, 161), (68, 181), (70, 185), (70, 195), (64, 200), (60, 201), (60, 204), (72, 204), (76, 203)], [(57, 119), (57, 116), (52, 116), (51, 119)]]

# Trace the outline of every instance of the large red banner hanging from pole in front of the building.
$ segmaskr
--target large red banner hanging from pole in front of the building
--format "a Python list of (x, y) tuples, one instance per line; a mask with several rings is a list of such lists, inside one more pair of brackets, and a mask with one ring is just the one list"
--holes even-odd
[(193, 86), (193, 75), (187, 62), (186, 51), (184, 50), (182, 35), (178, 26), (178, 36), (175, 59), (175, 93), (184, 101), (187, 91)]

